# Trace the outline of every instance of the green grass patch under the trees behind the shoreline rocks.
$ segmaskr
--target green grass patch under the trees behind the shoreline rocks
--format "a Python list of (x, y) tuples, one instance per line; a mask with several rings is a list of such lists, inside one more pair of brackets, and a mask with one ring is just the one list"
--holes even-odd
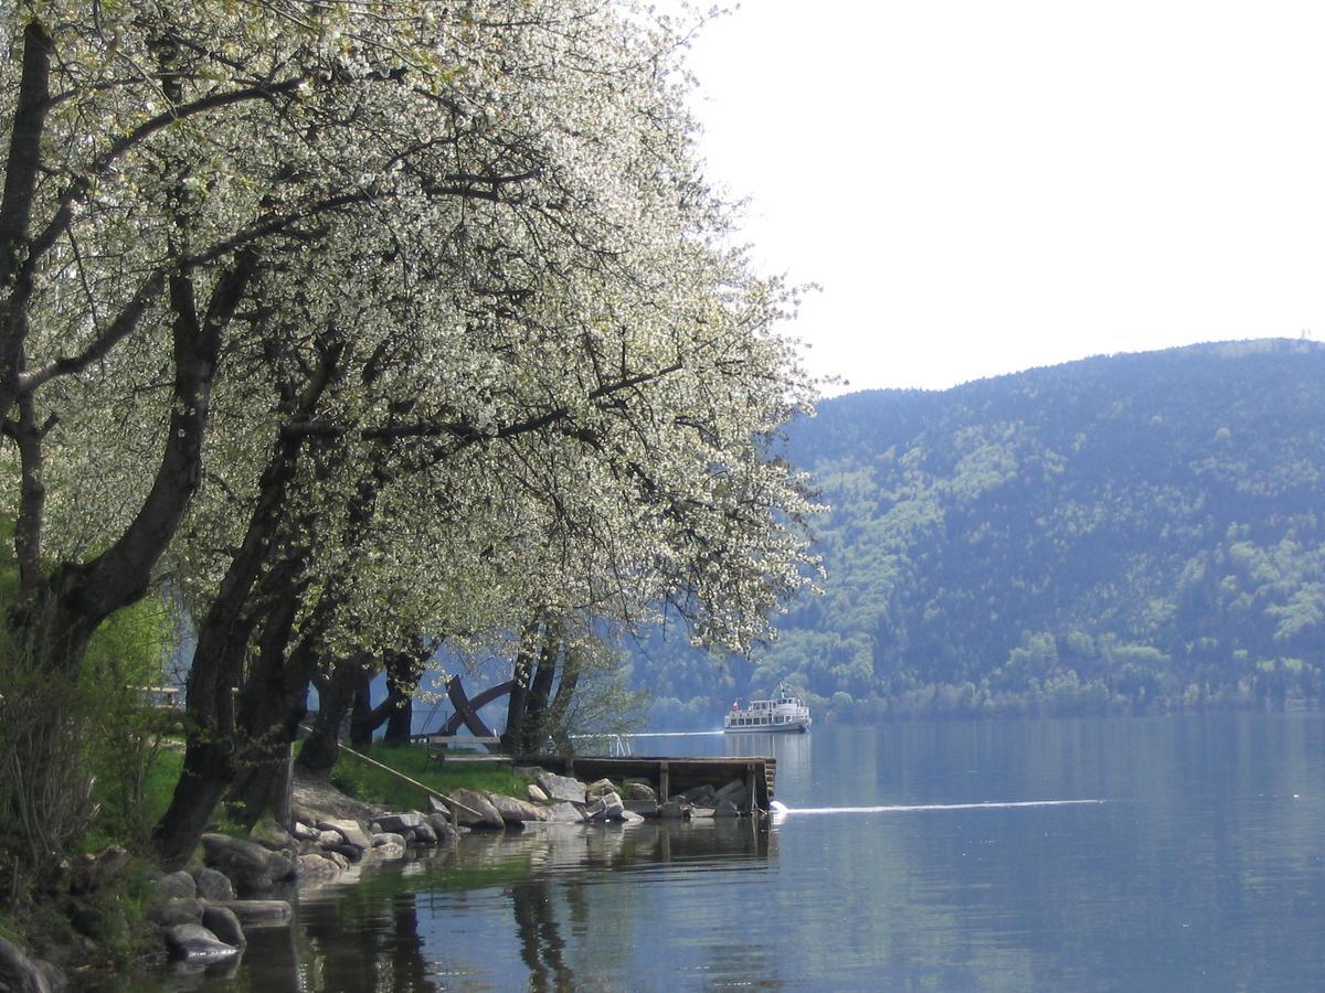
[[(427, 749), (421, 745), (374, 745), (366, 752), (370, 759), (404, 773), (439, 793), (453, 789), (476, 789), (484, 793), (504, 793), (525, 797), (527, 780), (517, 776), (506, 767), (482, 764), (428, 763)], [(375, 769), (352, 755), (341, 752), (341, 759), (331, 769), (331, 781), (350, 796), (368, 804), (382, 804), (395, 810), (423, 809), (428, 798), (408, 782), (401, 782), (382, 769)]]

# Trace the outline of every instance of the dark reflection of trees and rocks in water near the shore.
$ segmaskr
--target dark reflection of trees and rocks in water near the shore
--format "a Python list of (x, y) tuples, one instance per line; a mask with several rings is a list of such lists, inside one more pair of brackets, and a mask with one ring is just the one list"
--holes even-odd
[[(118, 989), (621, 989), (636, 949), (656, 933), (641, 886), (708, 890), (721, 884), (708, 882), (713, 874), (775, 857), (775, 835), (746, 818), (474, 834), (449, 851), (286, 894), (297, 900), (295, 927), (253, 932), (224, 970)], [(682, 968), (708, 982), (714, 955), (743, 959), (750, 945), (722, 943), (708, 963)]]

